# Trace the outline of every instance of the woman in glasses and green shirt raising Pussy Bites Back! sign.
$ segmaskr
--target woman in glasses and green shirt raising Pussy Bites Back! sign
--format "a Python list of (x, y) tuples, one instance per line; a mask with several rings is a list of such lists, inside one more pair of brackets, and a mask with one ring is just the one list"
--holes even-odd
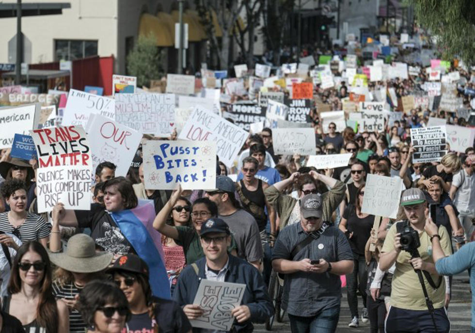
[[(182, 189), (178, 184), (178, 187), (173, 191), (170, 200), (167, 201), (161, 211), (158, 212), (157, 217), (155, 217), (153, 227), (162, 235), (174, 239), (176, 244), (183, 246), (186, 263), (189, 265), (197, 259), (205, 256), (200, 242), (201, 226), (209, 218), (218, 216), (218, 207), (208, 198), (196, 199), (191, 207), (191, 221), (193, 227), (170, 226), (166, 224), (166, 221), (174, 207), (177, 205), (181, 193)], [(228, 251), (231, 252), (231, 254), (236, 255), (236, 249), (236, 241), (232, 238), (232, 243), (231, 246), (228, 247)]]

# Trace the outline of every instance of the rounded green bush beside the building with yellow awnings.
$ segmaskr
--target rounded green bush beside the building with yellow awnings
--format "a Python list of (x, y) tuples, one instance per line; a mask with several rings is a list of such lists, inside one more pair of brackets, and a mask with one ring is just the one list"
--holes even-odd
[(137, 86), (150, 87), (150, 80), (159, 79), (163, 75), (161, 57), (155, 37), (139, 36), (139, 40), (127, 56), (127, 71), (131, 76), (137, 76)]

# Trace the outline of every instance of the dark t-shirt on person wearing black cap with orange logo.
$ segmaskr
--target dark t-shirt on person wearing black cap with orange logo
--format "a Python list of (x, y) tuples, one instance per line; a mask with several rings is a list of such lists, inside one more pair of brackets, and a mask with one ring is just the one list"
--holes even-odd
[[(155, 318), (160, 333), (185, 333), (191, 330), (191, 324), (185, 313), (174, 301), (154, 297)], [(152, 333), (152, 319), (147, 313), (132, 315), (127, 322), (129, 332)], [(127, 332), (126, 329), (123, 332)]]

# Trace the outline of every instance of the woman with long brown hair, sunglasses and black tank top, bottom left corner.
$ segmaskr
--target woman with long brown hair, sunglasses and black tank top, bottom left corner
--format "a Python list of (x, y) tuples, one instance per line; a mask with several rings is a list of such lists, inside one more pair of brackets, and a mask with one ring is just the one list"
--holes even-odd
[(39, 242), (20, 246), (8, 285), (11, 296), (2, 300), (2, 310), (18, 318), (25, 332), (67, 333), (69, 313), (65, 303), (54, 299), (51, 263)]

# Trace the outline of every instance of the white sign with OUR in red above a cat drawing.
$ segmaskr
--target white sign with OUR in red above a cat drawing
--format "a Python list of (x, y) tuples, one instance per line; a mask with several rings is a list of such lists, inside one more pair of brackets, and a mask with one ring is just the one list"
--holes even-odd
[(93, 170), (102, 162), (112, 162), (115, 177), (127, 176), (128, 167), (139, 147), (142, 133), (101, 115), (92, 115), (86, 127), (91, 147)]

